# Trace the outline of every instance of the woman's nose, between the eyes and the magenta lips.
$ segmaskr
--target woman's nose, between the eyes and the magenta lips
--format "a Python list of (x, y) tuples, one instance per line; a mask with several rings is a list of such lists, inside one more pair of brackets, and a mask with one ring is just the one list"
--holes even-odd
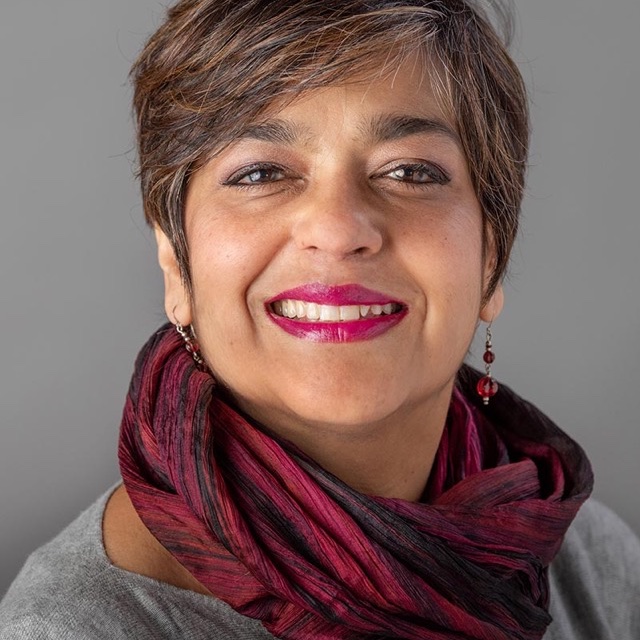
[(364, 187), (336, 179), (318, 185), (303, 199), (293, 228), (298, 248), (316, 250), (337, 260), (374, 255), (381, 250), (381, 213)]

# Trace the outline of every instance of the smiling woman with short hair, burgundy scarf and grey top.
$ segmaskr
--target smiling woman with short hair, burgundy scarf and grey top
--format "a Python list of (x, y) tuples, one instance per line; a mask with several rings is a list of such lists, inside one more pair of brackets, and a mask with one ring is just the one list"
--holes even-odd
[(173, 326), (0, 637), (637, 633), (638, 541), (491, 376), (528, 125), (481, 11), (183, 0), (133, 77)]

